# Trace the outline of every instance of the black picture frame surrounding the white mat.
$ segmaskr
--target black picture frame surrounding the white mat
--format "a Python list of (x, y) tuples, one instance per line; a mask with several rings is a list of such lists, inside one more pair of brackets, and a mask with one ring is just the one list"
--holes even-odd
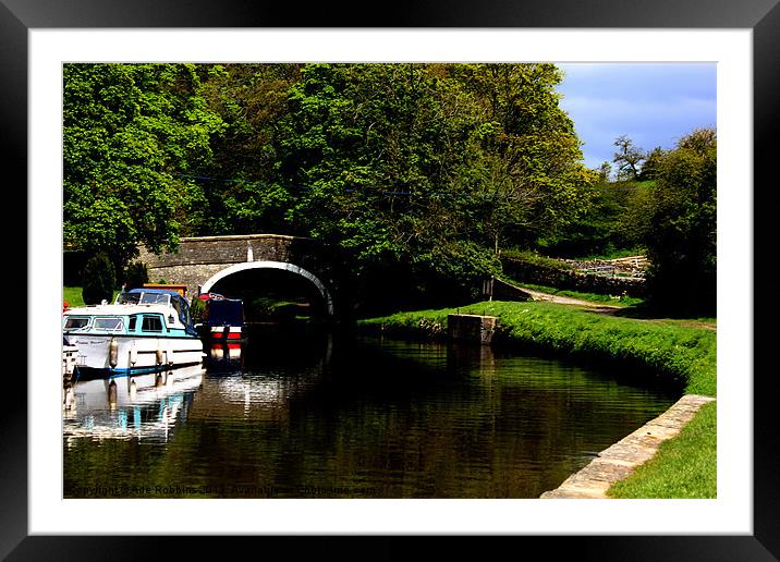
[[(27, 183), (27, 33), (35, 28), (114, 28), (114, 27), (540, 27), (540, 28), (747, 28), (753, 30), (754, 47), (754, 188), (755, 210), (768, 210), (761, 199), (777, 184), (778, 107), (780, 95), (780, 7), (778, 0), (722, 2), (718, 0), (661, 0), (639, 2), (629, 0), (546, 0), (509, 2), (484, 0), (436, 0), (432, 2), (399, 2), (376, 5), (366, 12), (354, 5), (321, 3), (305, 9), (293, 3), (248, 2), (240, 0), (0, 0), (0, 87), (2, 115), (3, 168), (7, 178), (15, 178), (5, 185), (15, 208), (26, 208)], [(377, 14), (373, 19), (368, 14)], [(15, 173), (14, 173), (15, 172)], [(773, 181), (772, 181), (773, 180)], [(760, 186), (759, 188), (756, 188)], [(748, 190), (746, 190), (746, 196)], [(24, 195), (23, 195), (24, 194)], [(757, 218), (757, 217), (756, 217)], [(754, 256), (773, 254), (772, 237), (754, 223)], [(15, 254), (10, 256), (20, 261)], [(22, 268), (19, 267), (21, 270)], [(777, 265), (770, 264), (756, 277), (754, 288), (746, 294), (761, 295), (772, 289)], [(760, 278), (760, 279), (759, 279)], [(763, 281), (766, 280), (766, 281)], [(753, 292), (748, 291), (753, 289)], [(33, 295), (27, 295), (27, 300)], [(753, 300), (745, 300), (752, 309)], [(761, 319), (771, 319), (777, 304), (761, 303), (754, 313), (754, 357), (766, 356), (773, 346), (773, 330), (761, 330)], [(27, 323), (31, 322), (27, 318)], [(25, 328), (27, 326), (25, 325)], [(32, 338), (27, 340), (31, 353)], [(566, 553), (580, 559), (598, 560), (778, 560), (780, 557), (780, 496), (777, 469), (780, 454), (773, 410), (775, 376), (771, 364), (756, 368), (754, 389), (754, 532), (751, 536), (549, 536), (501, 537), (497, 548), (522, 549), (515, 553), (544, 552), (546, 557)], [(10, 367), (10, 366), (7, 366)], [(12, 369), (7, 368), (7, 376)], [(751, 374), (744, 374), (745, 380)], [(0, 408), (2, 435), (2, 478), (0, 479), (0, 555), (9, 560), (130, 560), (161, 559), (168, 555), (205, 555), (205, 541), (217, 547), (230, 545), (230, 552), (244, 548), (258, 555), (282, 553), (303, 558), (304, 551), (329, 550), (348, 558), (389, 560), (402, 558), (419, 549), (414, 537), (365, 537), (367, 545), (356, 549), (344, 539), (354, 537), (310, 537), (307, 540), (284, 540), (284, 537), (137, 537), (137, 536), (28, 536), (27, 532), (27, 390), (14, 384), (13, 398), (7, 396)], [(446, 551), (459, 554), (484, 555), (482, 541), (472, 537), (447, 537), (438, 541)], [(502, 545), (501, 541), (505, 541)], [(334, 545), (336, 543), (336, 545)], [(349, 548), (350, 550), (342, 550)], [(537, 550), (541, 549), (541, 550)], [(512, 552), (512, 551), (502, 551)], [(357, 554), (356, 554), (357, 553)], [(441, 557), (440, 551), (437, 558)], [(557, 558), (557, 557), (556, 557)]]

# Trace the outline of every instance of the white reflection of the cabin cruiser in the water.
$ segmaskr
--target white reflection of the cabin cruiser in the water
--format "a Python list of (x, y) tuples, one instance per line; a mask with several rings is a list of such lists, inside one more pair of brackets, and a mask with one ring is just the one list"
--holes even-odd
[(65, 443), (73, 439), (147, 439), (167, 442), (186, 418), (203, 383), (202, 365), (134, 377), (76, 381), (63, 410)]

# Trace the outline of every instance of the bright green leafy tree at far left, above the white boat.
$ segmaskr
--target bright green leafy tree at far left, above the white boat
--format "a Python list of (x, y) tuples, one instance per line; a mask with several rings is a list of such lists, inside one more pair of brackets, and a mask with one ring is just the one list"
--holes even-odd
[(118, 268), (142, 243), (197, 231), (204, 194), (188, 175), (222, 127), (192, 64), (65, 64), (63, 236)]

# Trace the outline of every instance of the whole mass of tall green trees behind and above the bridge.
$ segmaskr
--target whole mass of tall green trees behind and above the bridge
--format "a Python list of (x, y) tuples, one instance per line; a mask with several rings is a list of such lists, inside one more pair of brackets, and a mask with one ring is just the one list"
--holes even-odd
[(64, 240), (126, 265), (137, 244), (290, 233), (358, 279), (473, 286), (502, 247), (592, 206), (561, 80), (532, 63), (66, 64)]

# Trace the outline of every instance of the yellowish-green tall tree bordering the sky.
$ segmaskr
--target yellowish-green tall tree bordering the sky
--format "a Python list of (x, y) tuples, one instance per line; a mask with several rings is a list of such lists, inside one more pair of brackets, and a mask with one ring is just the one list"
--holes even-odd
[(597, 174), (585, 168), (553, 64), (455, 64), (476, 95), (484, 135), (478, 223), (496, 252), (565, 228), (590, 207)]

